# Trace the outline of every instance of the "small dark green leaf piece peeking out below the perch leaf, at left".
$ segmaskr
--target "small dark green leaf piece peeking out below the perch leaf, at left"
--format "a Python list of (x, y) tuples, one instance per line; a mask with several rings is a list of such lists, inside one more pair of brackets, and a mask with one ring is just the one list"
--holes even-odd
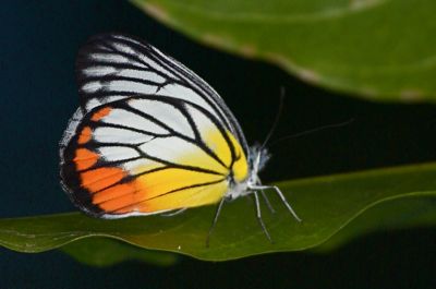
[(123, 261), (141, 261), (155, 266), (170, 266), (178, 256), (172, 253), (144, 250), (108, 238), (84, 238), (60, 249), (76, 261), (97, 267), (111, 266)]

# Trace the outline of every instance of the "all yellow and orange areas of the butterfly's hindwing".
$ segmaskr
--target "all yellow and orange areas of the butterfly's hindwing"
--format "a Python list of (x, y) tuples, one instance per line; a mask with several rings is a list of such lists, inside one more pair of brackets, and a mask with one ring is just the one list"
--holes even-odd
[[(102, 118), (109, 112), (108, 109), (101, 109), (93, 118)], [(228, 131), (226, 133), (235, 152), (233, 164), (229, 143), (218, 130), (210, 130), (203, 135), (205, 144), (227, 168), (199, 147), (180, 152), (180, 156), (172, 160), (189, 167), (152, 162), (131, 167), (129, 170), (118, 166), (94, 168), (105, 156), (87, 148), (77, 148), (73, 160), (81, 186), (89, 192), (92, 204), (105, 214), (153, 214), (197, 207), (217, 203), (226, 195), (230, 169), (237, 181), (247, 178), (245, 154), (235, 137)], [(84, 127), (77, 143), (89, 142), (92, 134), (92, 129)], [(229, 169), (230, 166), (232, 167)]]

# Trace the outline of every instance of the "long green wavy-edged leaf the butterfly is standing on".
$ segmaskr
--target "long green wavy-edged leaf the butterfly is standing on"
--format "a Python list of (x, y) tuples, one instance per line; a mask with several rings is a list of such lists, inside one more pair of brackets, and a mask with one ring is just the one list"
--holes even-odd
[[(253, 202), (245, 197), (223, 207), (209, 248), (205, 239), (215, 214), (214, 206), (189, 209), (173, 217), (102, 220), (72, 213), (1, 219), (0, 244), (20, 252), (41, 252), (86, 237), (109, 237), (145, 249), (210, 261), (301, 251), (326, 242), (356, 216), (387, 201), (414, 196), (432, 201), (428, 206), (435, 207), (436, 164), (303, 179), (278, 185), (303, 221), (296, 222), (274, 192), (268, 192), (277, 209), (271, 214), (263, 208), (265, 224), (275, 240), (272, 244), (255, 219)], [(435, 224), (433, 214), (428, 225)]]

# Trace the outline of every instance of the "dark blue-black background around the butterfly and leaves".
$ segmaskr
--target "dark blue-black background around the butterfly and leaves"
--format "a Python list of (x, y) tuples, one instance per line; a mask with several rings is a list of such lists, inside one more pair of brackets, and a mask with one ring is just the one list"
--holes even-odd
[[(436, 109), (374, 104), (315, 88), (280, 69), (209, 49), (123, 1), (3, 1), (0, 10), (0, 217), (75, 210), (58, 183), (58, 142), (77, 107), (75, 53), (98, 33), (147, 39), (226, 99), (250, 143), (351, 124), (271, 147), (267, 181), (436, 160)], [(0, 288), (436, 288), (436, 232), (379, 232), (328, 255), (280, 253), (226, 263), (184, 257), (169, 268), (82, 265), (52, 251), (0, 249)]]

